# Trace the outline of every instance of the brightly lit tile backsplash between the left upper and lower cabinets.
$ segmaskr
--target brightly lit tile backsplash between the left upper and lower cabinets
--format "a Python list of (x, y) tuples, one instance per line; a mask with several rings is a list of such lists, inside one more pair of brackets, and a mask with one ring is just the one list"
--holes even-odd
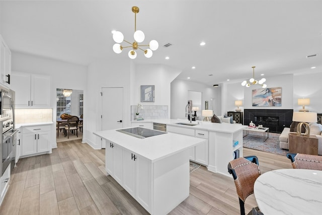
[(15, 109), (16, 124), (52, 122), (52, 109)]

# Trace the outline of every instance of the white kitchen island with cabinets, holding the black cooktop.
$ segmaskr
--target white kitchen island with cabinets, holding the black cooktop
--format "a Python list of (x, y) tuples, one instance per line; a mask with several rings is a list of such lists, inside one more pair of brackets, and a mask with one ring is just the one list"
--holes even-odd
[(205, 139), (167, 133), (137, 138), (97, 131), (106, 141), (105, 168), (149, 213), (167, 214), (189, 196), (189, 149)]

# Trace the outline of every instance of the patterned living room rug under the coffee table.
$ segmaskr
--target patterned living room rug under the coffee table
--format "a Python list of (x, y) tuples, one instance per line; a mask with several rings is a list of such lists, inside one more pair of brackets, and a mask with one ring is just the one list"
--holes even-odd
[[(243, 135), (246, 135), (246, 131), (243, 132)], [(243, 146), (245, 148), (253, 150), (259, 150), (263, 152), (286, 156), (288, 150), (280, 149), (280, 141), (278, 139), (279, 136), (279, 133), (270, 133), (270, 137), (266, 139), (264, 142), (263, 135), (259, 135), (258, 132), (249, 131), (249, 135), (243, 138)]]

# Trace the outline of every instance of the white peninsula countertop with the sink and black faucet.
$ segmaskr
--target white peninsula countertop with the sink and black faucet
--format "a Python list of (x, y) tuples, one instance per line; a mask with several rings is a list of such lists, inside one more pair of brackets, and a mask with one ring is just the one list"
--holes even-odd
[[(173, 125), (178, 127), (184, 128), (191, 128), (191, 129), (203, 129), (208, 131), (220, 131), (224, 133), (234, 133), (239, 130), (243, 130), (244, 128), (248, 127), (247, 125), (242, 124), (230, 124), (230, 123), (212, 123), (212, 122), (205, 122), (205, 121), (192, 121), (192, 124), (196, 125), (178, 125), (178, 122), (190, 123), (189, 120), (184, 119), (149, 119), (149, 120), (134, 120), (132, 122), (155, 122), (167, 125)], [(199, 122), (199, 124), (198, 124)]]

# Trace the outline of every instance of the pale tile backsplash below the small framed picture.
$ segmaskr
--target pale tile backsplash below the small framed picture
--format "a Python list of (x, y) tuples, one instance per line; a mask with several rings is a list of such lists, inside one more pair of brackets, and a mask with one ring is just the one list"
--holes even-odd
[[(137, 105), (131, 105), (131, 120), (134, 120), (136, 111)], [(143, 119), (167, 119), (168, 105), (143, 105), (138, 112)]]

